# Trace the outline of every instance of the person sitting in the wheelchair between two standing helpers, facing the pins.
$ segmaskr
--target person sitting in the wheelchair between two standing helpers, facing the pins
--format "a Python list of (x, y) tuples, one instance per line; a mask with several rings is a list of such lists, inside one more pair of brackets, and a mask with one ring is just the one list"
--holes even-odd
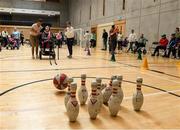
[(42, 48), (44, 51), (46, 48), (52, 50), (53, 41), (52, 41), (52, 33), (50, 31), (50, 27), (46, 26), (44, 32), (42, 33), (41, 41), (42, 41)]

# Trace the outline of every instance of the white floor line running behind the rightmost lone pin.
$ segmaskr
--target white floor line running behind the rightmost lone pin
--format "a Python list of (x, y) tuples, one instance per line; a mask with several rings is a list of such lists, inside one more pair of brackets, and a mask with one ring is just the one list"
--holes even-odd
[[(167, 91), (167, 92), (157, 92), (157, 93), (144, 94), (144, 97), (150, 97), (150, 96), (156, 96), (156, 95), (164, 95), (164, 94), (168, 94), (169, 92), (172, 92), (172, 93), (180, 92), (180, 89)], [(125, 100), (132, 99), (132, 96), (125, 97), (124, 99)]]

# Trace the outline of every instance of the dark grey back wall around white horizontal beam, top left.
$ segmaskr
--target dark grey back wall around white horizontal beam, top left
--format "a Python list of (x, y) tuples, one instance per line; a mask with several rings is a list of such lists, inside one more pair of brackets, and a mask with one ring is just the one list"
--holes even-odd
[[(27, 0), (0, 0), (0, 7), (7, 8), (21, 8), (21, 9), (35, 9), (35, 10), (53, 10), (60, 11), (61, 16), (59, 17), (42, 17), (42, 16), (30, 16), (30, 15), (12, 15), (12, 20), (33, 21), (39, 17), (44, 18), (47, 21), (51, 21), (53, 26), (64, 26), (68, 20), (68, 2), (67, 0), (60, 0), (57, 2), (33, 2)], [(1, 14), (2, 15), (2, 14)]]

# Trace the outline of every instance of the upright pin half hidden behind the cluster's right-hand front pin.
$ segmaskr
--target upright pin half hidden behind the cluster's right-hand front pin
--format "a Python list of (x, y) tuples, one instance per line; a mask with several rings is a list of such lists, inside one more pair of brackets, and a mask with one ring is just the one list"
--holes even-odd
[(117, 80), (119, 82), (119, 85), (118, 85), (118, 91), (117, 91), (117, 95), (120, 99), (120, 104), (122, 103), (122, 100), (124, 98), (124, 93), (123, 93), (123, 90), (121, 88), (121, 84), (122, 84), (122, 80), (123, 80), (123, 76), (120, 75), (120, 76), (117, 76)]

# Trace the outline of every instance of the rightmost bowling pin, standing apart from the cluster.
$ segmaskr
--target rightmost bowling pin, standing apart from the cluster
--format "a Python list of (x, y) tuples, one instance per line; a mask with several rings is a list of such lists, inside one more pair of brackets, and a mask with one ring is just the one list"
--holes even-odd
[(143, 79), (137, 78), (136, 82), (137, 82), (137, 88), (136, 88), (136, 92), (133, 94), (132, 103), (133, 103), (134, 110), (140, 111), (143, 105), (143, 101), (144, 101), (143, 93), (141, 91), (141, 85), (142, 85)]

